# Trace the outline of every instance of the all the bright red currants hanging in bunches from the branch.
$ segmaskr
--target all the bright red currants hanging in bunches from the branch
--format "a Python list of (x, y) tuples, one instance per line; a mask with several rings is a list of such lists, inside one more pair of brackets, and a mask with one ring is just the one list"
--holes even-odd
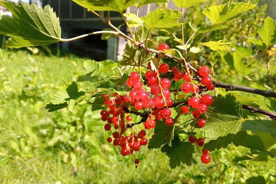
[[(169, 49), (168, 45), (161, 44), (158, 50)], [(152, 70), (151, 63), (148, 64), (148, 69), (145, 73), (145, 79), (147, 87), (145, 87), (144, 79), (137, 72), (132, 72), (127, 80), (127, 86), (132, 87), (133, 91), (130, 91), (129, 96), (118, 95), (114, 93), (113, 95), (105, 95), (105, 105), (108, 107), (106, 110), (101, 111), (101, 116), (103, 121), (107, 121), (104, 129), (106, 131), (111, 130), (111, 125), (114, 126), (115, 131), (112, 133), (112, 137), (108, 137), (107, 141), (112, 142), (115, 146), (119, 145), (121, 148), (121, 154), (126, 156), (128, 154), (133, 154), (133, 151), (139, 151), (141, 145), (147, 144), (147, 139), (144, 137), (146, 135), (145, 130), (139, 131), (137, 135), (131, 133), (126, 135), (126, 129), (130, 127), (131, 116), (126, 116), (128, 114), (129, 107), (134, 107), (135, 110), (140, 111), (144, 108), (144, 113), (147, 112), (146, 117), (142, 118), (144, 122), (145, 129), (152, 129), (155, 127), (158, 120), (165, 118), (165, 123), (168, 126), (174, 124), (174, 119), (171, 116), (171, 110), (169, 109), (173, 106), (173, 100), (170, 98), (170, 85), (171, 81), (169, 78), (160, 76), (160, 74), (165, 74), (170, 72), (173, 74), (174, 81), (180, 81), (182, 78), (184, 83), (181, 85), (181, 91), (183, 93), (191, 93), (191, 97), (187, 101), (188, 106), (182, 106), (181, 112), (183, 114), (188, 114), (191, 112), (193, 115), (193, 120), (197, 120), (198, 124), (196, 128), (204, 127), (206, 120), (200, 118), (201, 113), (205, 113), (213, 103), (213, 98), (209, 94), (202, 95), (206, 90), (214, 90), (214, 85), (212, 84), (211, 78), (208, 77), (210, 74), (210, 69), (207, 66), (202, 66), (194, 76), (199, 76), (201, 81), (199, 84), (192, 82), (192, 72), (191, 71), (180, 71), (177, 67), (172, 67), (171, 70), (167, 63), (162, 63), (157, 70)], [(170, 76), (170, 75), (166, 75)], [(199, 94), (199, 90), (201, 94)], [(132, 113), (135, 114), (135, 113)], [(137, 114), (136, 114), (137, 115)], [(127, 121), (127, 125), (125, 124)], [(111, 133), (110, 133), (111, 134)], [(188, 137), (189, 142), (196, 143), (198, 146), (204, 145), (204, 139), (197, 139), (194, 135)], [(210, 161), (209, 151), (202, 149), (202, 163), (207, 164)], [(133, 156), (132, 156), (133, 158)], [(135, 164), (139, 163), (138, 159), (133, 160)]]

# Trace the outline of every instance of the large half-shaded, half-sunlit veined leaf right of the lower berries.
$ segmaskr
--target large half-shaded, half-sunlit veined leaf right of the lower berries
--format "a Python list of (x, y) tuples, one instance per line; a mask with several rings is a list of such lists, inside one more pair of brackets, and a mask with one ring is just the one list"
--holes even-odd
[[(208, 107), (208, 120), (202, 130), (205, 131), (207, 140), (217, 139), (229, 133), (236, 134), (241, 130), (242, 117), (241, 103), (233, 95), (213, 97), (212, 106)], [(206, 118), (206, 117), (203, 117)]]

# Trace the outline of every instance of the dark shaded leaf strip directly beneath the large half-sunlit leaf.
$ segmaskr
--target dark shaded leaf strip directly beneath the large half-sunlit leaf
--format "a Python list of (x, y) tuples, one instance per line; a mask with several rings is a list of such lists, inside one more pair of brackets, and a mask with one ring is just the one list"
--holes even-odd
[(241, 143), (246, 140), (248, 134), (245, 131), (239, 131), (237, 134), (228, 134), (223, 137), (218, 137), (215, 140), (210, 140), (208, 143), (204, 144), (204, 149), (206, 150), (219, 150), (222, 147), (225, 148), (229, 144), (233, 143), (235, 146), (241, 145)]

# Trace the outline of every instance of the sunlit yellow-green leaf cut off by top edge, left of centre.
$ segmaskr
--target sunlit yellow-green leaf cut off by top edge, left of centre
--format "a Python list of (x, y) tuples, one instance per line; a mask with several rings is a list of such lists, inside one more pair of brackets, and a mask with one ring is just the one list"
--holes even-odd
[(88, 11), (118, 11), (123, 12), (134, 5), (137, 0), (72, 0), (88, 9)]

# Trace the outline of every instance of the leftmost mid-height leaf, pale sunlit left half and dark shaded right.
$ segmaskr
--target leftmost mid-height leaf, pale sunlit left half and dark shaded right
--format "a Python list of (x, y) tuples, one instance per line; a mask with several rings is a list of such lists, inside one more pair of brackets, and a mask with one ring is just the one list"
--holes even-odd
[(58, 91), (52, 98), (52, 104), (62, 104), (66, 101), (76, 101), (79, 97), (85, 95), (85, 92), (78, 91), (78, 86), (76, 82), (72, 82), (67, 85), (65, 90)]

